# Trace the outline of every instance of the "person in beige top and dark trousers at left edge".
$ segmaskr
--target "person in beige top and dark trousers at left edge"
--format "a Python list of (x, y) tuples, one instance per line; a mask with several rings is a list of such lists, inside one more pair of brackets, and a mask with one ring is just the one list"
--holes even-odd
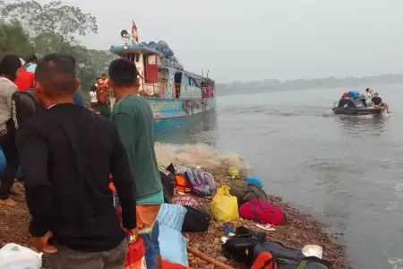
[(20, 75), (21, 69), (22, 63), (18, 56), (7, 55), (0, 61), (0, 145), (6, 162), (0, 175), (0, 204), (8, 206), (15, 204), (9, 196), (20, 166), (13, 132), (12, 96), (18, 91), (14, 81)]

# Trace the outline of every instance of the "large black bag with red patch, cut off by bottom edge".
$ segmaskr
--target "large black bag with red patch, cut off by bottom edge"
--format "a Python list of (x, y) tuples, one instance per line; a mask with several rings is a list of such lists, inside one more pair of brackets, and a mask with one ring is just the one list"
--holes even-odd
[[(262, 253), (270, 253), (271, 259), (267, 259), (262, 265), (262, 257), (258, 259)], [(270, 257), (270, 256), (267, 256)], [(260, 260), (260, 262), (258, 262)], [(329, 261), (320, 259), (316, 256), (304, 256), (301, 249), (286, 247), (275, 241), (260, 242), (253, 248), (253, 261), (260, 267), (255, 265), (256, 269), (273, 269), (276, 266), (279, 269), (331, 269)], [(254, 264), (253, 264), (254, 265)]]

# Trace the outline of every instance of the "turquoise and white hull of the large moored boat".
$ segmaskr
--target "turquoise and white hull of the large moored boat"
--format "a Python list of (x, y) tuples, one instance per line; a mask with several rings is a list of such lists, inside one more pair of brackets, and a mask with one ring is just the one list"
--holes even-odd
[(154, 132), (176, 128), (198, 120), (216, 108), (216, 98), (147, 99), (154, 114)]

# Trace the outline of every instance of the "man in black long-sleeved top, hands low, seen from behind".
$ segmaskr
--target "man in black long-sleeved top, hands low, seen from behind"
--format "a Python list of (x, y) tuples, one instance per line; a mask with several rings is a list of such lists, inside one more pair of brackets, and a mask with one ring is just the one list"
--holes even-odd
[[(70, 55), (39, 60), (34, 90), (46, 109), (24, 121), (16, 134), (32, 245), (49, 254), (51, 269), (123, 269), (124, 230), (136, 226), (135, 182), (115, 127), (73, 104), (79, 87), (75, 71)], [(122, 226), (109, 174), (120, 194)]]

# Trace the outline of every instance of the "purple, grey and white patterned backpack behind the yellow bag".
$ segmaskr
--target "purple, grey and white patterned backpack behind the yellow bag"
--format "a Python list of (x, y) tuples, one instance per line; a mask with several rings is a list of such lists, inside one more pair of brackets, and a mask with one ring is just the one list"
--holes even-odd
[(184, 176), (192, 186), (195, 195), (212, 195), (216, 189), (214, 177), (203, 169), (187, 169)]

